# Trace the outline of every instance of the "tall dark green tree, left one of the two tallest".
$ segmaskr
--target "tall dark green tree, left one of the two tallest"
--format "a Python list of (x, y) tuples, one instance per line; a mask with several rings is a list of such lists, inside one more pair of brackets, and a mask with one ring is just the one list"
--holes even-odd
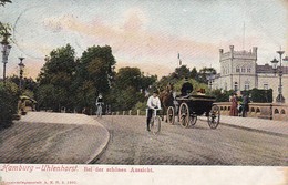
[[(73, 106), (71, 84), (74, 81), (75, 66), (75, 51), (70, 44), (50, 52), (37, 79), (40, 88), (37, 93), (38, 99), (41, 99), (39, 102), (40, 109), (42, 105), (51, 105), (53, 111), (60, 111), (62, 106)], [(43, 95), (49, 93), (52, 93), (52, 95), (44, 99)], [(53, 103), (50, 104), (50, 102)]]

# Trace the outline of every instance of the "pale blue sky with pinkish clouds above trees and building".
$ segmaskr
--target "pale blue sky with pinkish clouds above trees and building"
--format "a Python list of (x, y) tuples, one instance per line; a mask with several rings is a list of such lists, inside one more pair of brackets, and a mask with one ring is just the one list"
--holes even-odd
[[(219, 70), (219, 49), (258, 47), (258, 64), (288, 54), (288, 0), (12, 0), (0, 7), (12, 27), (8, 75), (35, 78), (44, 56), (70, 43), (76, 56), (111, 45), (116, 69), (167, 75), (182, 64)], [(287, 62), (288, 63), (288, 62)], [(287, 65), (285, 63), (285, 65)], [(0, 64), (0, 76), (3, 66)]]

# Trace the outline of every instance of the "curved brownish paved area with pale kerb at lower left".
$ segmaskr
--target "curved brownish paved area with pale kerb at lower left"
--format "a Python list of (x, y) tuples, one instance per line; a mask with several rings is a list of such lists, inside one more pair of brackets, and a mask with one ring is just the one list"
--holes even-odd
[(0, 163), (90, 163), (109, 133), (83, 114), (29, 112), (0, 131)]

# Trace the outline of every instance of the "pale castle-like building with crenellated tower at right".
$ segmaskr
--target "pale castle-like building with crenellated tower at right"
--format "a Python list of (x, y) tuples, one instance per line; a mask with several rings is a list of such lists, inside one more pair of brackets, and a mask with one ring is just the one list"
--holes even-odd
[[(278, 95), (279, 75), (271, 65), (257, 64), (257, 47), (250, 51), (235, 51), (234, 45), (228, 52), (219, 49), (220, 73), (215, 75), (213, 89), (244, 91), (272, 89), (274, 100)], [(279, 66), (278, 66), (279, 69)], [(288, 100), (288, 66), (282, 66), (282, 95)]]

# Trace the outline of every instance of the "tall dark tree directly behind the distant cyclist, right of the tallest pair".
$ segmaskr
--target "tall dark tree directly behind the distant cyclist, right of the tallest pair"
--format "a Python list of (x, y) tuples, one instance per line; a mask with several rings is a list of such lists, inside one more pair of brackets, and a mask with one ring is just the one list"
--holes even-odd
[(93, 45), (82, 53), (76, 66), (75, 81), (72, 84), (72, 91), (76, 93), (74, 102), (78, 109), (93, 109), (99, 93), (107, 100), (115, 75), (115, 63), (109, 45)]

